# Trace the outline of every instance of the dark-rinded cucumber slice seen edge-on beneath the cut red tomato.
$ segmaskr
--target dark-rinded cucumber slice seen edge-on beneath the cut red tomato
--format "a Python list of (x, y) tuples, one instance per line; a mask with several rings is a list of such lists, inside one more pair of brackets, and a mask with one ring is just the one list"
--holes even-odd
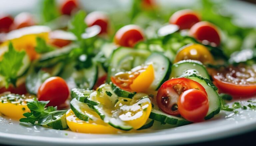
[(172, 124), (176, 126), (183, 126), (191, 123), (182, 117), (168, 115), (157, 109), (152, 109), (149, 118), (162, 123)]

